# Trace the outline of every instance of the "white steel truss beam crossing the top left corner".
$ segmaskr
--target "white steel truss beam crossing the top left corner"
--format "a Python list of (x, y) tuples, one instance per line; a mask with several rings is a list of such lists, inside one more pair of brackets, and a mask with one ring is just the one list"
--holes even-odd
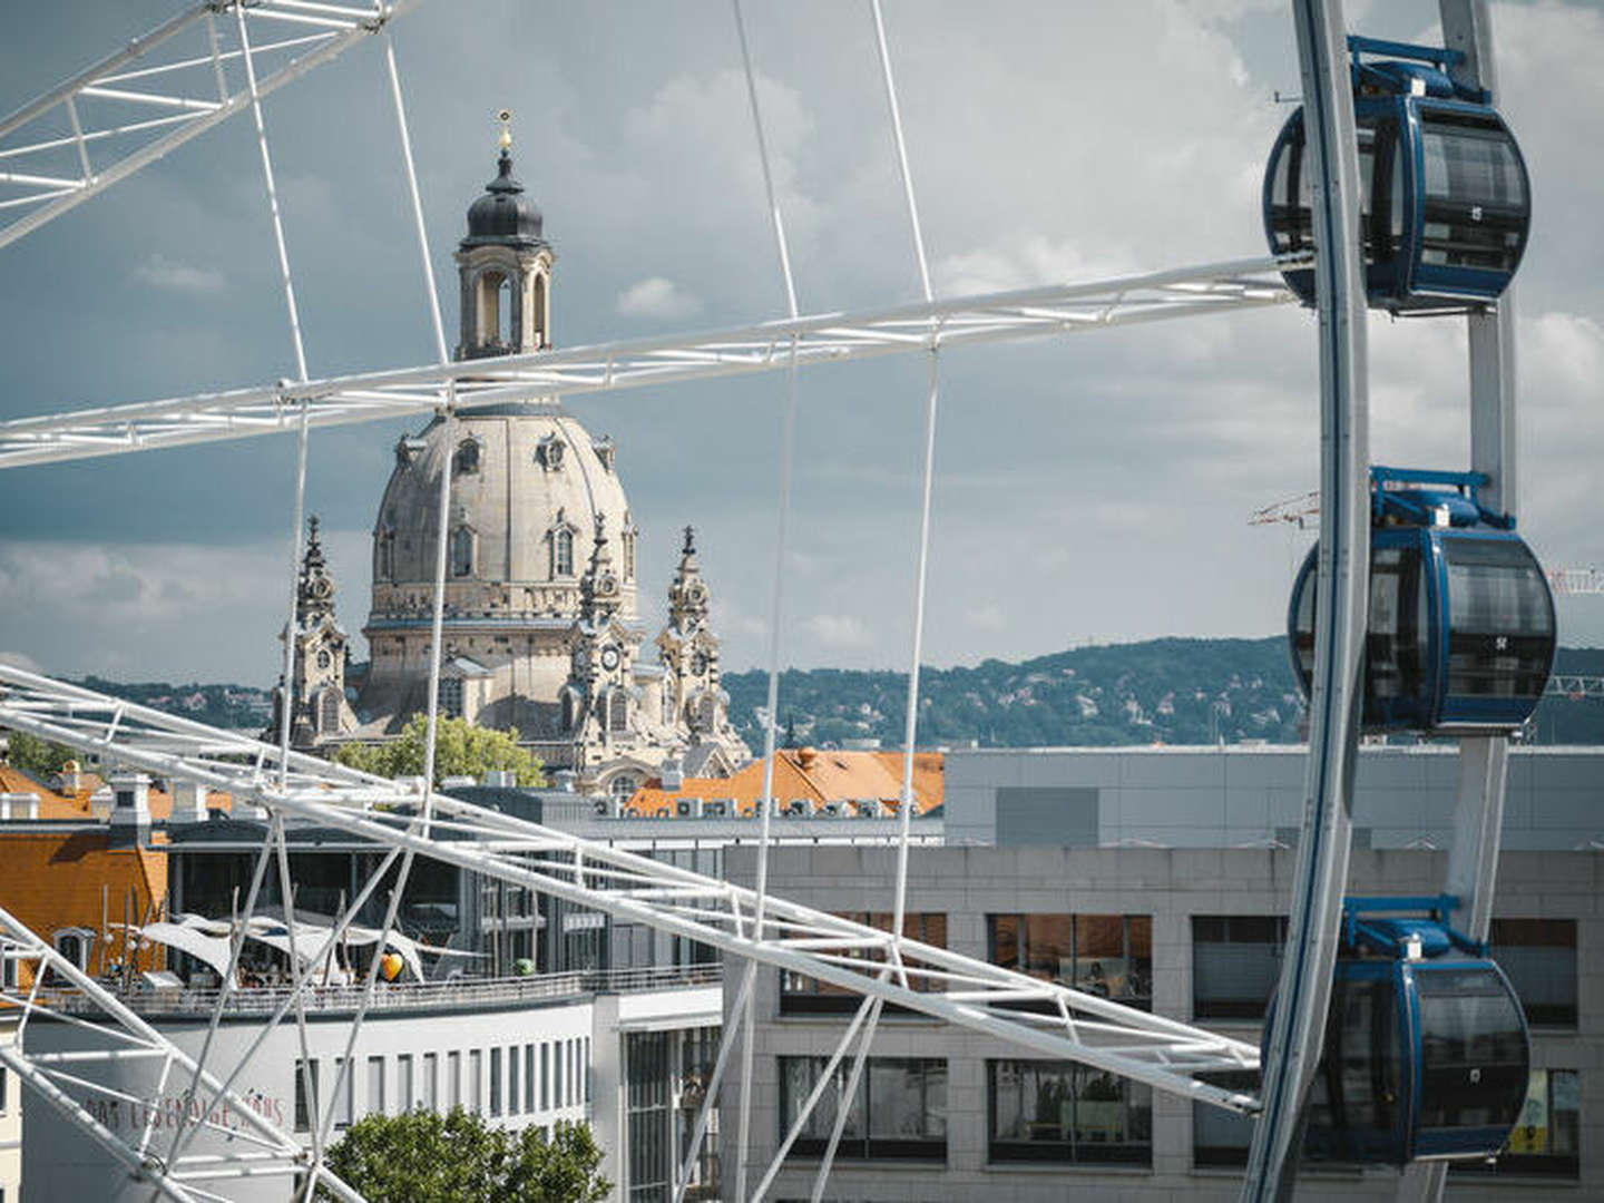
[[(229, 90), (245, 56), (234, 11), (260, 29), (250, 61), (265, 96), (383, 29), (399, 3), (205, 0), (0, 119), (0, 247), (61, 217), (236, 112), (250, 90)], [(202, 38), (202, 32), (205, 37)]]

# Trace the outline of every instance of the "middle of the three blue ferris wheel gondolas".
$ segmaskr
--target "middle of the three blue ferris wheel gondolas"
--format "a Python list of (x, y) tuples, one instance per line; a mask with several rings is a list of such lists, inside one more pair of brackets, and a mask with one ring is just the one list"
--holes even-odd
[[(1487, 735), (1524, 723), (1554, 664), (1554, 598), (1485, 476), (1371, 468), (1367, 731)], [(1318, 547), (1293, 584), (1293, 672), (1309, 695)]]

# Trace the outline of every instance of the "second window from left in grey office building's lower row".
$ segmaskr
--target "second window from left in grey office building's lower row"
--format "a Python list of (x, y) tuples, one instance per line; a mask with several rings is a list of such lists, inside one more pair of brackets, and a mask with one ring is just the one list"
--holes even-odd
[(1055, 1060), (993, 1060), (993, 1161), (1152, 1165), (1150, 1088)]

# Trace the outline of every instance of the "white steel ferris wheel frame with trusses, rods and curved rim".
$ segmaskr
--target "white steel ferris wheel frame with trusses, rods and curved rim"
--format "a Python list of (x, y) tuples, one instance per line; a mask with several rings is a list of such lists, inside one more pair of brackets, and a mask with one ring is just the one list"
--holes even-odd
[[(329, 61), (364, 35), (382, 30), (398, 8), (399, 5), (383, 3), (354, 8), (313, 0), (258, 0), (249, 5), (234, 3), (234, 0), (210, 0), (181, 13), (146, 38), (136, 40), (127, 50), (112, 55), (0, 120), (0, 184), (34, 189), (22, 196), (0, 199), (0, 209), (27, 210), (11, 225), (0, 226), (0, 247), (37, 229), (53, 217), (245, 107), (257, 111), (263, 167), (268, 176), (269, 199), (273, 199), (266, 136), (260, 124), (260, 98), (319, 63)], [(1490, 77), (1484, 0), (1442, 0), (1442, 8), (1450, 40), (1458, 38), (1461, 43), (1468, 43), (1472, 51), (1471, 71), (1480, 69), (1485, 77)], [(1341, 30), (1339, 0), (1328, 3), (1296, 0), (1294, 10), (1307, 27), (1320, 26), (1338, 34)], [(223, 11), (234, 13), (239, 32), (237, 50), (223, 50), (218, 40), (213, 18)], [(258, 22), (298, 26), (297, 32), (302, 35), (252, 48), (245, 32), (247, 18)], [(736, 18), (739, 21), (738, 0)], [(146, 58), (197, 22), (207, 26), (210, 53), (205, 58), (160, 63)], [(876, 24), (879, 26), (877, 5)], [(879, 34), (887, 90), (890, 91), (890, 64), (885, 56), (884, 29), (879, 29)], [(282, 63), (261, 79), (252, 74), (257, 55), (295, 51), (300, 47), (310, 47), (310, 50)], [(744, 50), (743, 32), (743, 55)], [(132, 61), (141, 58), (151, 66), (124, 71)], [(229, 91), (223, 63), (233, 58), (244, 59), (247, 75), (250, 75), (249, 88)], [(176, 85), (165, 91), (122, 87), (136, 79), (156, 79), (165, 83), (180, 79), (184, 71), (207, 66), (217, 77), (218, 98), (215, 101), (200, 99)], [(404, 115), (399, 114), (399, 85), (395, 77), (393, 55), (390, 66), (411, 178), (411, 149), (406, 144)], [(1330, 98), (1333, 93), (1341, 93), (1339, 82), (1333, 85), (1331, 79), (1315, 80), (1309, 63), (1304, 66), (1306, 90), (1310, 96)], [(1333, 79), (1336, 75), (1336, 72), (1327, 74)], [(751, 85), (749, 63), (747, 79)], [(140, 115), (136, 119), (109, 115), (98, 124), (87, 122), (80, 101), (133, 106), (133, 112)], [(755, 115), (755, 90), (752, 101)], [(71, 122), (71, 136), (38, 136), (22, 146), (6, 143), (10, 135), (58, 107)], [(152, 111), (160, 111), (164, 115), (151, 117)], [(0, 467), (66, 462), (286, 430), (298, 430), (305, 448), (305, 435), (311, 427), (422, 412), (443, 412), (449, 420), (459, 406), (488, 404), (497, 399), (611, 391), (739, 372), (794, 371), (802, 366), (874, 354), (938, 351), (969, 342), (1108, 329), (1173, 316), (1280, 305), (1291, 298), (1275, 274), (1282, 268), (1307, 263), (1307, 260), (1256, 258), (1097, 284), (1051, 286), (937, 300), (929, 287), (922, 241), (917, 234), (917, 215), (913, 207), (913, 189), (906, 172), (906, 152), (901, 144), (895, 96), (892, 96), (892, 115), (897, 122), (903, 183), (926, 282), (926, 300), (919, 305), (873, 313), (804, 318), (796, 310), (789, 263), (786, 261), (791, 316), (783, 321), (701, 335), (632, 340), (452, 364), (446, 363), (436, 310), (438, 363), (314, 380), (308, 379), (305, 358), (300, 353), (294, 294), (289, 284), (274, 199), (274, 228), (279, 239), (290, 324), (297, 340), (297, 358), (302, 363), (297, 382), (8, 420), (0, 423)], [(122, 138), (136, 138), (152, 130), (165, 130), (165, 133), (127, 151), (112, 162), (103, 164), (98, 170), (95, 168), (91, 149), (98, 154), (103, 144), (117, 146)], [(762, 143), (760, 122), (759, 141)], [(75, 152), (80, 168), (77, 173), (47, 175), (45, 172), (13, 170), (18, 162), (26, 165), (29, 156), (48, 156), (63, 148), (71, 148)], [(1341, 186), (1331, 181), (1328, 184), (1338, 196), (1343, 192)], [(415, 207), (415, 181), (412, 188)], [(781, 258), (786, 260), (778, 205), (773, 204), (772, 194), (770, 204), (780, 234)], [(422, 241), (420, 217), (419, 234)], [(1331, 305), (1327, 294), (1328, 289), (1322, 284), (1323, 321), (1333, 321), (1327, 313)], [(1480, 462), (1487, 462), (1485, 465), (1493, 470), (1495, 481), (1501, 481), (1501, 486), (1513, 492), (1513, 415), (1506, 404), (1506, 395), (1511, 391), (1508, 379), (1511, 361), (1508, 350), (1503, 350), (1513, 340), (1508, 313), (1505, 308), (1498, 314), (1482, 314), (1484, 321), (1480, 322), (1472, 316), (1472, 377), (1476, 383), (1472, 441), (1479, 467), (1482, 467)], [(1343, 354), (1349, 354), (1351, 369), (1357, 364), (1357, 371), (1362, 372), (1362, 343), (1357, 354), (1352, 351)], [(932, 358), (932, 423), (934, 363)], [(1362, 420), (1363, 415), (1360, 415)], [(1360, 433), (1355, 446), (1362, 446), (1362, 439)], [(1343, 472), (1347, 472), (1347, 467)], [(926, 484), (929, 489), (929, 478)], [(1323, 502), (1330, 512), (1338, 512), (1338, 494), (1346, 497), (1347, 488), (1346, 481), (1335, 478), (1325, 481)], [(444, 505), (441, 505), (441, 513), (444, 515)], [(436, 597), (436, 611), (438, 605)], [(1339, 600), (1338, 605), (1331, 606), (1331, 621), (1349, 626), (1357, 621), (1362, 626), (1362, 600)], [(438, 659), (438, 637), (435, 642)], [(917, 656), (914, 662), (917, 662)], [(1346, 669), (1317, 672), (1317, 699), (1322, 691), (1328, 691), (1333, 685), (1339, 695), (1349, 688), (1341, 680), (1344, 672)], [(773, 898), (762, 889), (757, 892), (743, 890), (606, 845), (470, 807), (449, 797), (423, 791), (409, 792), (396, 783), (369, 778), (287, 749), (273, 749), (250, 739), (213, 731), (197, 723), (160, 715), (16, 669), (0, 667), (0, 725), (59, 739), (104, 759), (146, 768), (167, 778), (223, 789), (237, 800), (249, 799), (268, 807), (279, 839), (281, 873), (284, 874), (287, 874), (282, 844), (284, 820), (313, 820), (388, 847), (391, 855), (385, 861), (387, 866), (396, 853), (403, 852), (407, 858), (404, 865), (411, 863), (412, 855), (435, 857), (489, 877), (528, 885), (743, 956), (749, 964), (743, 998), (749, 998), (751, 966), (757, 964), (805, 974), (860, 993), (865, 996), (865, 1007), (860, 1009), (858, 1019), (837, 1047), (836, 1062), (840, 1060), (865, 1015), (869, 1017), (873, 1028), (879, 1009), (885, 1003), (893, 1003), (961, 1027), (991, 1033), (1043, 1055), (1065, 1057), (1105, 1068), (1198, 1102), (1250, 1115), (1259, 1107), (1259, 1100), (1248, 1094), (1211, 1086), (1197, 1078), (1198, 1073), (1205, 1071), (1256, 1067), (1258, 1051), (1251, 1046), (1132, 1011), (1108, 999), (1043, 983), (982, 961), (919, 945), (903, 938), (900, 932), (881, 932), (800, 908)], [(1349, 746), (1351, 751), (1352, 731), (1333, 727), (1323, 733), (1322, 739), (1327, 746), (1327, 755), (1339, 759), (1344, 746)], [(1471, 831), (1464, 840), (1456, 840), (1450, 884), (1463, 887), (1461, 892), (1474, 900), (1476, 922), (1484, 927), (1492, 893), (1490, 865), (1497, 860), (1503, 744), (1501, 741), (1476, 741), (1476, 746), (1469, 747), (1468, 752), (1471, 755), (1461, 786), (1461, 812), (1464, 815), (1460, 826)], [(1310, 786), (1315, 791), (1314, 800), (1328, 808), (1341, 800), (1344, 788), (1341, 783), (1335, 788)], [(908, 799), (903, 805), (906, 815)], [(1339, 845), (1338, 855), (1331, 865), (1322, 869), (1323, 876), (1318, 877), (1317, 889), (1322, 892), (1322, 898), (1314, 906), (1315, 913), (1328, 911), (1333, 890), (1341, 887), (1341, 865), (1346, 863), (1346, 828), (1338, 821), (1331, 836), (1333, 847)], [(265, 865), (266, 849), (258, 861), (253, 892), (255, 885), (260, 884)], [(1314, 881), (1315, 877), (1310, 877), (1310, 882)], [(375, 885), (377, 877), (369, 884), (369, 890)], [(395, 897), (391, 898), (391, 919), (393, 903)], [(901, 895), (898, 893), (900, 905)], [(354, 908), (356, 903), (342, 916), (340, 922), (350, 922)], [(390, 922), (387, 921), (387, 929)], [(40, 964), (59, 961), (48, 946), (37, 937), (30, 938), (30, 934), (19, 929), (10, 916), (0, 914), (0, 940), (10, 942), (8, 948), (13, 954), (27, 950), (26, 954), (37, 956)], [(1315, 958), (1315, 961), (1322, 958)], [(1328, 975), (1328, 966), (1325, 970)], [(67, 977), (71, 978), (71, 974)], [(1318, 977), (1320, 966), (1314, 962), (1299, 974), (1299, 978), (1314, 980)], [(369, 986), (371, 982), (372, 978), (369, 978)], [(300, 990), (295, 991), (295, 996), (300, 996)], [(16, 998), (0, 996), (0, 1001), (18, 1004)], [(1044, 1006), (1047, 1011), (1046, 1014), (1019, 1011), (1017, 1004), (1020, 1003)], [(736, 1006), (739, 1009), (741, 1004)], [(1291, 1009), (1285, 1011), (1290, 1015)], [(1312, 1057), (1318, 1052), (1323, 1001), (1317, 999), (1309, 1007), (1302, 1007), (1301, 1012), (1302, 1035), (1294, 1041), (1298, 1046), (1294, 1052), (1304, 1063), (1299, 1073), (1306, 1079), (1307, 1067), (1312, 1065)], [(120, 1015), (117, 1019), (127, 1025), (127, 1019)], [(356, 1022), (358, 1028), (359, 1023), (361, 1012)], [(200, 1092), (200, 1086), (210, 1089), (213, 1105), (215, 1100), (228, 1094), (231, 1079), (218, 1084), (215, 1078), (207, 1076), (204, 1063), (184, 1062), (183, 1054), (172, 1049), (159, 1033), (141, 1033), (141, 1038), (154, 1051), (151, 1055), (165, 1057), (164, 1063), (168, 1070), (180, 1065), (191, 1071), (192, 1089), (197, 1092)], [(865, 1039), (863, 1049), (866, 1046)], [(853, 1075), (861, 1070), (863, 1049), (860, 1049)], [(720, 1071), (727, 1052), (728, 1046), (720, 1054)], [(18, 1063), (19, 1075), (30, 1086), (35, 1086), (47, 1102), (63, 1108), (69, 1118), (82, 1126), (80, 1118), (71, 1115), (72, 1100), (51, 1081), (51, 1075), (59, 1078), (63, 1071), (29, 1062), (27, 1055), (18, 1051), (10, 1051), (5, 1057), (6, 1063), (13, 1060)], [(747, 1094), (749, 1091), (743, 1089), (743, 1099)], [(1291, 1094), (1296, 1096), (1298, 1089), (1293, 1088)], [(818, 1091), (810, 1104), (816, 1100), (816, 1096)], [(709, 1105), (712, 1097), (714, 1091), (709, 1091)], [(199, 1123), (204, 1126), (205, 1116)], [(1266, 1129), (1274, 1128), (1274, 1132), (1262, 1131), (1256, 1140), (1248, 1185), (1251, 1197), (1261, 1197), (1259, 1192), (1274, 1189), (1275, 1182), (1290, 1181), (1286, 1176), (1296, 1173), (1294, 1166), (1285, 1165), (1294, 1124), (1296, 1107), (1288, 1105), (1278, 1105), (1272, 1124), (1261, 1124)], [(699, 1128), (704, 1129), (704, 1126), (706, 1110)], [(91, 1128), (85, 1128), (85, 1131), (104, 1144), (106, 1134)], [(310, 1155), (298, 1158), (289, 1152), (287, 1145), (273, 1144), (284, 1140), (282, 1134), (263, 1134), (263, 1137), (273, 1147), (271, 1156), (284, 1160), (286, 1166), (294, 1163), (298, 1171), (310, 1168), (322, 1174), (326, 1181), (329, 1179), (322, 1168), (322, 1148), (316, 1136)], [(111, 1152), (119, 1160), (135, 1166), (159, 1192), (175, 1198), (205, 1197), (194, 1193), (197, 1190), (194, 1187), (181, 1185), (186, 1173), (191, 1177), (257, 1173), (244, 1161), (202, 1166), (202, 1158), (197, 1155), (191, 1155), (184, 1161), (181, 1142), (172, 1165), (167, 1165), (154, 1156), (146, 1144), (133, 1150), (132, 1156), (127, 1147)], [(1267, 1155), (1266, 1150), (1269, 1150)], [(773, 1181), (784, 1152), (786, 1148), (781, 1147), (768, 1174), (759, 1184), (759, 1195)], [(815, 1198), (821, 1189), (823, 1174), (828, 1173), (828, 1165), (829, 1158), (826, 1156), (815, 1185)], [(310, 1176), (308, 1181), (316, 1179), (318, 1174)], [(741, 1181), (744, 1184), (744, 1150)], [(329, 1181), (329, 1185), (335, 1190), (343, 1189), (337, 1185), (337, 1181)], [(683, 1176), (678, 1185), (683, 1189)], [(1420, 1189), (1423, 1197), (1440, 1190), (1440, 1174), (1436, 1176), (1434, 1182), (1421, 1182)]]

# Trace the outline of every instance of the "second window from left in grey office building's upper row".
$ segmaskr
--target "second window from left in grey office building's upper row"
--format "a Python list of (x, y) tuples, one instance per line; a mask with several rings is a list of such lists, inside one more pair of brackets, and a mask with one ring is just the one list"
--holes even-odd
[(991, 964), (1044, 982), (1153, 1004), (1153, 917), (1150, 914), (988, 914)]

